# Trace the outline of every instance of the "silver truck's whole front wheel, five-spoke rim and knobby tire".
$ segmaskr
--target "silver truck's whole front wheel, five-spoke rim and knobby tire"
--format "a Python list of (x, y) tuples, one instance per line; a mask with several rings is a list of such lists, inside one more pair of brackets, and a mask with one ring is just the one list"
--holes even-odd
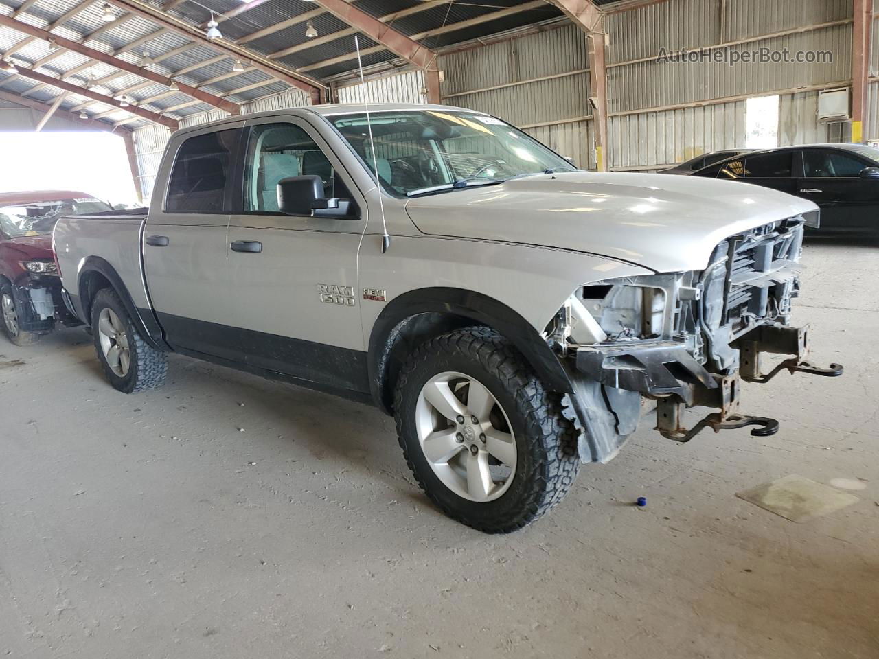
[(512, 532), (567, 494), (574, 429), (497, 332), (458, 329), (419, 346), (396, 387), (400, 445), (425, 494), (483, 532)]

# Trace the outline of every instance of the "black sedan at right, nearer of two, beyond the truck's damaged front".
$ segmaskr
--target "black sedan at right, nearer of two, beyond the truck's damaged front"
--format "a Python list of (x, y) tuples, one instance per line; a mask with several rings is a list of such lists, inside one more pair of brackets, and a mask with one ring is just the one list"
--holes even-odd
[(873, 147), (769, 148), (727, 158), (692, 176), (740, 180), (814, 201), (822, 230), (879, 233), (879, 149)]

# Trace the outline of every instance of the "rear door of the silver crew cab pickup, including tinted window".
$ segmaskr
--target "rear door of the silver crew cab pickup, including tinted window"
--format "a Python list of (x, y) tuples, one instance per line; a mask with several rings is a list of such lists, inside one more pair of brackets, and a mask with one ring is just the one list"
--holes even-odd
[[(230, 194), (243, 122), (175, 136), (143, 235), (150, 301), (175, 350), (217, 355)], [(172, 155), (173, 154), (173, 155)]]

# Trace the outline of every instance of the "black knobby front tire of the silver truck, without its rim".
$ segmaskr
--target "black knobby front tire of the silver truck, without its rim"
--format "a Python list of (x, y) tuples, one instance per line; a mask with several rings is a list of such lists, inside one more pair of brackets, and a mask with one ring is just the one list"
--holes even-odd
[[(509, 418), (516, 471), (510, 487), (492, 501), (454, 494), (433, 473), (418, 441), (418, 395), (427, 380), (448, 371), (479, 380)], [(492, 329), (456, 329), (418, 346), (396, 382), (395, 410), (403, 455), (418, 485), (441, 511), (479, 531), (508, 533), (530, 524), (562, 501), (577, 477), (577, 442), (560, 396), (547, 391), (515, 346)]]

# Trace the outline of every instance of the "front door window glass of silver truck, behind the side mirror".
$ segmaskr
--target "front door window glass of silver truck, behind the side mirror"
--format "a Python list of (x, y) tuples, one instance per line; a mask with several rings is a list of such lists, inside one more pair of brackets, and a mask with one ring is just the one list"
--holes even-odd
[(244, 171), (244, 212), (278, 212), (278, 182), (282, 178), (319, 176), (324, 197), (348, 197), (336, 181), (332, 164), (316, 142), (293, 124), (251, 128)]

